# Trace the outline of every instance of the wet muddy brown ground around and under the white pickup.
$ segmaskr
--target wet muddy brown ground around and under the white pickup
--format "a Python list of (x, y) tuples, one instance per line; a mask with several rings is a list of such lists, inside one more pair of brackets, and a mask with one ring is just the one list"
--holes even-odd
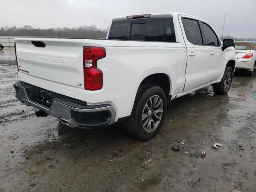
[(256, 74), (234, 76), (228, 95), (209, 86), (173, 100), (159, 134), (140, 142), (122, 124), (83, 130), (37, 118), (14, 96), (15, 64), (14, 50), (4, 48), (0, 192), (256, 191)]

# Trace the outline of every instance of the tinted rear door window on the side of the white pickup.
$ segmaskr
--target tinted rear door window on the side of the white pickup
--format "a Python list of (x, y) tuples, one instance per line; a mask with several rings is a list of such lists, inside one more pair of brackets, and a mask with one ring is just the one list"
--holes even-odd
[(202, 34), (197, 20), (182, 18), (188, 41), (194, 45), (202, 45)]

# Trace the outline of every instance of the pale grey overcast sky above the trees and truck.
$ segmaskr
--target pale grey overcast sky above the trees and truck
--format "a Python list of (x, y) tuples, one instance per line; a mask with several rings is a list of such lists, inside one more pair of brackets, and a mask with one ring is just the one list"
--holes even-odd
[(256, 0), (0, 0), (0, 26), (106, 28), (116, 16), (168, 11), (203, 18), (219, 36), (226, 11), (224, 35), (256, 38)]

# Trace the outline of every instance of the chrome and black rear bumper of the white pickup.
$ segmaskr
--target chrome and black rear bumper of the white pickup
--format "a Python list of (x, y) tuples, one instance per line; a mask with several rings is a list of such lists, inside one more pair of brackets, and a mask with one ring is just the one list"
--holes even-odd
[[(116, 112), (110, 104), (87, 105), (86, 102), (24, 82), (14, 83), (14, 88), (19, 100), (40, 110), (37, 112), (37, 116), (44, 116), (43, 113), (45, 113), (65, 120), (68, 122), (66, 124), (71, 127), (81, 128), (96, 128), (114, 123)], [(39, 94), (42, 90), (51, 96), (51, 100), (49, 99), (51, 102), (47, 102), (47, 106), (40, 103)]]

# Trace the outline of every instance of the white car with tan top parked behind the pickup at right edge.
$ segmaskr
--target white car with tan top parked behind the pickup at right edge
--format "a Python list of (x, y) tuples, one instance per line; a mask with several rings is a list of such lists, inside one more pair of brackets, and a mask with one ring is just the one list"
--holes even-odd
[(256, 45), (252, 41), (236, 41), (236, 69), (254, 74), (256, 68)]

